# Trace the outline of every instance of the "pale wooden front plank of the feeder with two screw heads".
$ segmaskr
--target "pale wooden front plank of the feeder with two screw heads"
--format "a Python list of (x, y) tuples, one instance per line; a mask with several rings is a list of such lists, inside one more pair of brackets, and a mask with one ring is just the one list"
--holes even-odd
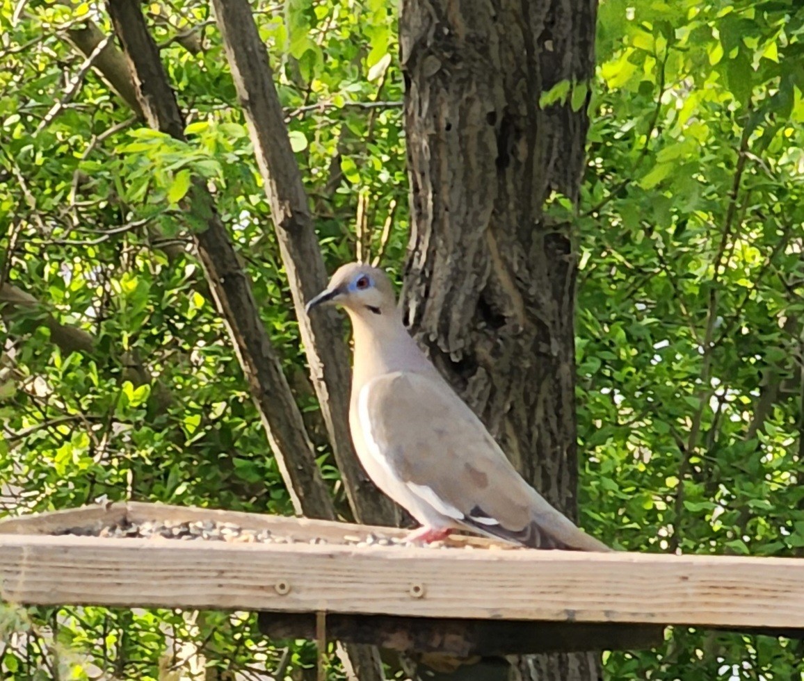
[(804, 628), (794, 558), (0, 536), (2, 598)]

